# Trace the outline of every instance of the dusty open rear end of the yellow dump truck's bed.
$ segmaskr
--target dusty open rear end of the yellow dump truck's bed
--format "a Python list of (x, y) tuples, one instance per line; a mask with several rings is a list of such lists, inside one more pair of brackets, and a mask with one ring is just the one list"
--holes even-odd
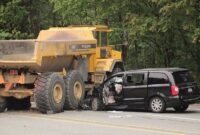
[(0, 40), (0, 67), (33, 67), (36, 64), (35, 42), (35, 40)]

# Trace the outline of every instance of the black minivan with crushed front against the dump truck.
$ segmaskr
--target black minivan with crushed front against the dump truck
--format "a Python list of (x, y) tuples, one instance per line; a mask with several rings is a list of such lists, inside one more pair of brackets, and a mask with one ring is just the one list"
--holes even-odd
[(151, 68), (117, 73), (93, 93), (92, 110), (104, 107), (144, 108), (164, 112), (185, 111), (200, 101), (200, 90), (184, 68)]

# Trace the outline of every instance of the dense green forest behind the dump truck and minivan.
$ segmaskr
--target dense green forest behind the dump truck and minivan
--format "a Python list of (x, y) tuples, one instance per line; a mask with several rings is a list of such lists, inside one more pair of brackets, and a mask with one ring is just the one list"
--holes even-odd
[(68, 25), (108, 25), (126, 69), (186, 67), (200, 81), (199, 0), (0, 0), (0, 39)]

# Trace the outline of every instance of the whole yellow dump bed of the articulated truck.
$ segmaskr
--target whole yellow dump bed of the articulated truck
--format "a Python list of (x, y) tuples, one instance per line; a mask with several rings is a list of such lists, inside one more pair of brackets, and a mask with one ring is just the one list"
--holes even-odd
[(74, 55), (92, 54), (95, 48), (91, 31), (44, 30), (35, 40), (0, 40), (0, 68), (59, 72), (70, 67)]

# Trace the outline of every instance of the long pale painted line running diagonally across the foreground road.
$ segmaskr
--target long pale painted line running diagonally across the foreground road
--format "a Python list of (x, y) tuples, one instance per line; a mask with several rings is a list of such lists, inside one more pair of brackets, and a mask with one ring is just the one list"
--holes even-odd
[(22, 118), (29, 118), (29, 119), (39, 119), (39, 120), (51, 120), (56, 122), (64, 122), (64, 123), (74, 123), (74, 124), (84, 124), (84, 125), (96, 125), (106, 128), (121, 128), (124, 130), (132, 130), (138, 132), (145, 132), (145, 133), (156, 133), (156, 134), (164, 134), (164, 135), (186, 135), (186, 134), (194, 134), (199, 135), (197, 133), (192, 132), (182, 132), (176, 130), (166, 130), (161, 128), (150, 128), (145, 126), (137, 126), (137, 125), (126, 125), (126, 124), (118, 124), (118, 123), (110, 123), (110, 122), (103, 122), (103, 121), (96, 121), (96, 120), (83, 120), (83, 119), (75, 119), (70, 117), (58, 117), (58, 116), (48, 116), (48, 115), (35, 115), (35, 114), (26, 114), (23, 113), (18, 114), (18, 117)]

